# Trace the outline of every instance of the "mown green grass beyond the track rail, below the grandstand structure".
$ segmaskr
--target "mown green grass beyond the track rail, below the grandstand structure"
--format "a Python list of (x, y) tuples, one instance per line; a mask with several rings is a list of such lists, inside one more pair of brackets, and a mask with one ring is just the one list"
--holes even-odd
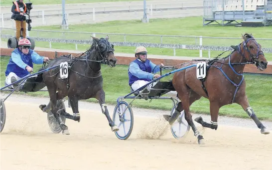
[[(117, 20), (96, 24), (70, 24), (68, 31), (79, 32), (104, 32), (104, 33), (132, 33), (132, 34), (160, 34), (160, 35), (190, 35), (190, 36), (212, 36), (212, 37), (236, 37), (241, 34), (252, 33), (256, 38), (272, 38), (272, 26), (266, 27), (235, 27), (235, 26), (202, 26), (202, 17), (150, 19), (149, 23), (141, 23), (140, 20)], [(33, 29), (60, 30), (59, 25), (38, 26)], [(2, 29), (2, 34), (14, 34)], [(56, 37), (65, 39), (90, 39), (91, 34), (83, 33), (46, 33), (31, 30), (30, 36)], [(105, 34), (96, 34), (96, 37), (105, 37)], [(122, 35), (110, 35), (110, 41), (124, 41)], [(149, 42), (160, 43), (160, 37), (126, 35), (127, 42)], [(242, 39), (212, 39), (203, 38), (203, 45), (231, 46), (237, 45)], [(188, 45), (199, 45), (199, 39), (194, 37), (163, 37), (163, 43), (179, 43)], [(272, 41), (258, 40), (262, 47), (270, 48)], [(48, 42), (36, 42), (36, 46), (49, 47)], [(79, 50), (85, 50), (89, 45), (78, 45)], [(75, 44), (52, 43), (52, 48), (75, 49)], [(116, 52), (133, 53), (135, 47), (115, 47)], [(173, 49), (169, 48), (147, 48), (148, 54), (173, 55)], [(216, 57), (222, 51), (211, 51), (211, 57)], [(177, 56), (198, 57), (199, 50), (176, 49)], [(227, 55), (227, 54), (226, 54)], [(224, 55), (224, 56), (226, 56)], [(266, 53), (266, 58), (272, 61), (272, 54)], [(208, 57), (208, 51), (203, 50), (203, 56)]]

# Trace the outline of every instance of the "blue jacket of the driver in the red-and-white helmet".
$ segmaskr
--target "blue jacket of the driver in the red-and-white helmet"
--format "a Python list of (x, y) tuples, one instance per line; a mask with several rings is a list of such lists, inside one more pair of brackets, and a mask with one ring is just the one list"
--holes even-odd
[(24, 77), (30, 74), (25, 67), (28, 65), (33, 68), (33, 63), (42, 64), (43, 57), (32, 49), (29, 49), (28, 54), (24, 54), (19, 48), (16, 48), (11, 53), (11, 57), (6, 66), (5, 76), (8, 76), (10, 72), (13, 72), (18, 77)]

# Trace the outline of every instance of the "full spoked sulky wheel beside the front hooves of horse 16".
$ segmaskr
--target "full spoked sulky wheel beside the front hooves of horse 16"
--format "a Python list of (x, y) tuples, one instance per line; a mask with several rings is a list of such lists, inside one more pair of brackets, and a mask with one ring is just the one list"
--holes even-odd
[(114, 109), (113, 115), (114, 124), (117, 125), (119, 131), (115, 132), (118, 139), (126, 140), (131, 136), (133, 130), (133, 112), (132, 108), (125, 101), (120, 102), (120, 112), (118, 105)]

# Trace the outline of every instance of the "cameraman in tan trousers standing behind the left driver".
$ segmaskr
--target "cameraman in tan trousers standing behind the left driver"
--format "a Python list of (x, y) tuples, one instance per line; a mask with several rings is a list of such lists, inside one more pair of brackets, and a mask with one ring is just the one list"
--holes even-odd
[(17, 0), (12, 2), (13, 5), (11, 7), (11, 19), (15, 20), (16, 23), (16, 39), (19, 42), (20, 31), (23, 28), (22, 36), (26, 38), (26, 18), (24, 16), (26, 12), (26, 5), (23, 0)]

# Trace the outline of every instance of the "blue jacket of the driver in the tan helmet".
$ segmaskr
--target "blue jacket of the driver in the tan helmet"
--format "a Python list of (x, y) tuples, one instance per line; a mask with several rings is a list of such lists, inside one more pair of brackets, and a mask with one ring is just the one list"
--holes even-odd
[(159, 66), (150, 60), (141, 62), (139, 59), (134, 60), (129, 68), (129, 85), (131, 86), (137, 80), (151, 81), (154, 74), (160, 70)]

